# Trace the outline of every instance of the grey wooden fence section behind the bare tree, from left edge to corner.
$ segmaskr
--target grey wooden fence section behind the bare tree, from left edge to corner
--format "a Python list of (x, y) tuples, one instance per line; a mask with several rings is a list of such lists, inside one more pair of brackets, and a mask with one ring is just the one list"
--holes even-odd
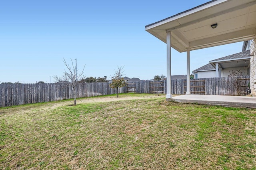
[[(78, 83), (77, 98), (115, 94), (110, 83)], [(71, 87), (62, 83), (0, 84), (0, 107), (41, 103), (74, 98)], [(118, 88), (118, 93), (126, 93), (126, 87)]]

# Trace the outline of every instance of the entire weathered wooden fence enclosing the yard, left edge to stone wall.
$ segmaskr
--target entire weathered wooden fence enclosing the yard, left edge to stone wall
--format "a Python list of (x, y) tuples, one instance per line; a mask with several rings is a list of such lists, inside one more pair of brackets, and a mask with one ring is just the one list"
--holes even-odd
[[(206, 95), (246, 95), (246, 86), (250, 82), (249, 76), (238, 77), (237, 87), (231, 86), (234, 77), (191, 79), (191, 94)], [(79, 83), (77, 98), (111, 95), (116, 89), (110, 83)], [(65, 87), (62, 83), (52, 84), (0, 84), (0, 107), (58, 101), (74, 98), (72, 88)], [(127, 87), (118, 88), (118, 93), (164, 93), (166, 94), (165, 81), (138, 81), (129, 82)], [(172, 80), (172, 94), (186, 93), (186, 80)]]

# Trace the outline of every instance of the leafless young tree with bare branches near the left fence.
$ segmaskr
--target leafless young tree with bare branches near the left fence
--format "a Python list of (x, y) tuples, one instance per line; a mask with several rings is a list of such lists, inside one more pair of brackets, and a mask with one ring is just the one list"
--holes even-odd
[[(78, 84), (78, 81), (80, 81), (80, 79), (84, 78), (84, 76), (83, 76), (84, 68), (81, 73), (77, 73), (76, 65), (74, 65), (72, 59), (70, 59), (70, 60), (72, 62), (72, 67), (70, 67), (70, 65), (64, 59), (63, 62), (66, 65), (67, 70), (66, 69), (64, 70), (63, 75), (61, 77), (58, 77), (55, 75), (54, 79), (58, 83), (65, 83), (64, 88), (69, 87), (69, 86), (72, 87), (73, 95), (74, 95), (74, 105), (76, 105), (76, 86)], [(85, 65), (84, 65), (84, 67), (85, 67)]]

